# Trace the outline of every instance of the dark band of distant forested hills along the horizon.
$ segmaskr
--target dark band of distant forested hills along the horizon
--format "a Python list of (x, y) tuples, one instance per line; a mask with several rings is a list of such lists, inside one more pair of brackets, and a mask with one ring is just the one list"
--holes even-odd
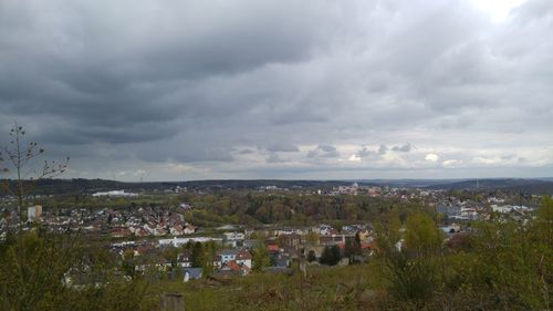
[[(1, 180), (7, 182), (7, 180)], [(10, 183), (10, 180), (8, 180)], [(11, 182), (13, 183), (13, 180)], [(41, 179), (32, 187), (34, 194), (74, 194), (125, 189), (127, 191), (165, 190), (186, 187), (189, 190), (253, 190), (275, 186), (288, 189), (330, 190), (338, 186), (349, 186), (354, 180), (284, 180), (284, 179), (225, 179), (190, 182), (125, 183), (107, 179)], [(426, 188), (431, 190), (476, 190), (477, 179), (362, 179), (359, 186), (389, 186), (399, 188)], [(552, 179), (499, 178), (478, 179), (479, 190), (522, 191), (532, 195), (553, 195)]]

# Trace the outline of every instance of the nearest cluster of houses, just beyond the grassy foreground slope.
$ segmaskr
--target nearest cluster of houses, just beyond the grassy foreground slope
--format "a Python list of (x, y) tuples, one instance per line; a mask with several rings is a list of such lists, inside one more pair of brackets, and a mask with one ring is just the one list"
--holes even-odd
[[(217, 278), (247, 276), (253, 268), (252, 250), (264, 248), (267, 252), (269, 272), (290, 272), (292, 262), (306, 260), (312, 256), (312, 265), (323, 256), (325, 247), (336, 246), (344, 252), (346, 242), (358, 239), (361, 251), (358, 261), (365, 261), (372, 253), (374, 240), (367, 225), (348, 225), (340, 231), (330, 225), (290, 228), (270, 227), (260, 230), (226, 231), (212, 236), (173, 237), (155, 240), (124, 241), (112, 243), (112, 250), (122, 256), (132, 251), (136, 258), (136, 270), (147, 271), (156, 269), (174, 273), (178, 269), (184, 281), (205, 277), (202, 267), (194, 267), (192, 250), (187, 245), (196, 242), (215, 242), (218, 246), (212, 260), (209, 262), (209, 274)], [(161, 253), (168, 249), (176, 249), (175, 260), (164, 258)], [(342, 265), (347, 265), (343, 261)]]

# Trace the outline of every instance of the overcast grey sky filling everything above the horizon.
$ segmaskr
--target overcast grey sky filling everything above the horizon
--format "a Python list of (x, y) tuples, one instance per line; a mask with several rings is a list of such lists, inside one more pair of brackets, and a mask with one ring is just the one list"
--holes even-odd
[(65, 177), (553, 176), (551, 0), (0, 0), (0, 126)]

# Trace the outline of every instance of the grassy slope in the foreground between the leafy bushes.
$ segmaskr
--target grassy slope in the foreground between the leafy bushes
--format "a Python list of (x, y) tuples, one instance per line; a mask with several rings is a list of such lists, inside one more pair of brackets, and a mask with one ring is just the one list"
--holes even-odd
[(209, 280), (152, 284), (145, 310), (156, 310), (158, 296), (179, 292), (186, 310), (371, 310), (383, 280), (376, 263), (349, 267), (309, 267), (302, 273), (252, 274), (228, 282)]

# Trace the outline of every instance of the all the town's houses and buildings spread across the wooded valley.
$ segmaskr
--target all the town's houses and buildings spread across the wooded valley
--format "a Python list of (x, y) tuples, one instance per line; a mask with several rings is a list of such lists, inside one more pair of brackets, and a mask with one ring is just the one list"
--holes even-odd
[[(264, 187), (263, 190), (275, 190)], [(321, 190), (317, 194), (323, 195)], [(524, 215), (529, 207), (508, 204), (504, 198), (490, 196), (486, 201), (461, 200), (451, 198), (441, 191), (419, 189), (397, 189), (387, 187), (341, 186), (324, 195), (368, 195), (394, 197), (409, 200), (424, 199), (434, 205), (436, 211), (444, 215), (440, 229), (446, 238), (462, 232), (465, 224), (474, 219), (487, 219), (491, 212), (500, 215)], [(111, 191), (97, 196), (125, 197), (133, 194)], [(253, 268), (253, 249), (264, 248), (269, 265), (267, 271), (289, 271), (292, 262), (310, 258), (316, 265), (323, 257), (325, 248), (337, 247), (342, 255), (352, 241), (355, 241), (358, 251), (354, 257), (344, 258), (338, 265), (348, 265), (351, 260), (366, 261), (375, 249), (374, 232), (369, 225), (357, 224), (335, 228), (320, 224), (305, 227), (267, 226), (240, 229), (221, 227), (209, 235), (202, 234), (192, 224), (186, 221), (184, 214), (191, 209), (188, 204), (180, 204), (176, 208), (163, 206), (142, 206), (128, 209), (102, 208), (100, 210), (75, 208), (43, 210), (41, 206), (32, 206), (27, 210), (28, 222), (40, 221), (51, 230), (66, 230), (80, 228), (86, 235), (98, 235), (116, 238), (118, 241), (111, 245), (111, 249), (122, 259), (128, 252), (135, 258), (136, 271), (156, 269), (164, 272), (180, 271), (184, 281), (206, 277), (208, 271), (202, 267), (194, 267), (192, 253), (184, 246), (192, 242), (213, 242), (217, 252), (210, 258), (210, 276), (232, 277), (247, 276)], [(4, 209), (0, 218), (0, 234), (9, 224), (17, 219), (17, 210)], [(10, 222), (11, 221), (11, 222)], [(201, 235), (201, 236), (200, 236)], [(1, 236), (0, 236), (1, 237)], [(156, 237), (156, 239), (153, 239)], [(123, 241), (122, 241), (123, 240)], [(401, 247), (399, 241), (398, 248)], [(163, 252), (167, 249), (177, 249), (176, 258), (166, 258)]]

